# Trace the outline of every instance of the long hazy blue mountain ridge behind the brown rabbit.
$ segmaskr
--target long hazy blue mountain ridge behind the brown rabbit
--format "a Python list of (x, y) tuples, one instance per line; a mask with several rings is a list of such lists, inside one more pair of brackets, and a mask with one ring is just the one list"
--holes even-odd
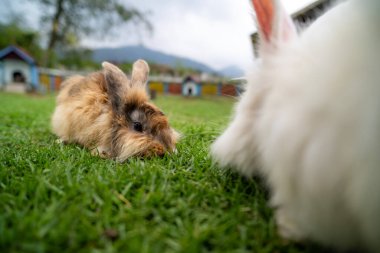
[(96, 62), (133, 62), (137, 59), (144, 59), (148, 62), (169, 65), (171, 67), (183, 66), (206, 73), (217, 73), (217, 71), (201, 62), (181, 56), (162, 53), (144, 46), (93, 49), (93, 60)]

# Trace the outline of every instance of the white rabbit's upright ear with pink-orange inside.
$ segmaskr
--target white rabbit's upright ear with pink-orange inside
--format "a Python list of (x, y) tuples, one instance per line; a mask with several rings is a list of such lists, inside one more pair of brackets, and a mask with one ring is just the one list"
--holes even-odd
[(260, 35), (260, 53), (273, 51), (297, 37), (291, 17), (280, 0), (252, 0)]

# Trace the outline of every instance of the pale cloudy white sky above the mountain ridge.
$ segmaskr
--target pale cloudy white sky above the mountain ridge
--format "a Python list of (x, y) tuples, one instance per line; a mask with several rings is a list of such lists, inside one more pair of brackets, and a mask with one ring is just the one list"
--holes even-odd
[[(214, 69), (236, 65), (249, 69), (253, 61), (249, 35), (255, 30), (248, 0), (122, 0), (126, 6), (149, 12), (154, 25), (151, 36), (120, 26), (120, 31), (103, 39), (85, 38), (89, 47), (117, 47), (143, 44), (149, 48), (201, 61)], [(313, 0), (285, 0), (285, 8), (294, 12)], [(2, 6), (1, 6), (2, 5)], [(24, 18), (38, 26), (39, 10), (31, 3), (20, 6), (14, 0), (2, 0), (0, 16), (28, 13)]]

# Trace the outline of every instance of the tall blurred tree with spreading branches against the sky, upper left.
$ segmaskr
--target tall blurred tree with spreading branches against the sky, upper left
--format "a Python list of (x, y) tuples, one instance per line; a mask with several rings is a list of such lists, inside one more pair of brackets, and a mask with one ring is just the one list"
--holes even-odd
[(44, 9), (41, 23), (48, 32), (45, 65), (51, 65), (52, 52), (59, 46), (78, 44), (83, 36), (109, 34), (122, 23), (152, 26), (145, 15), (134, 8), (126, 8), (120, 0), (36, 0)]

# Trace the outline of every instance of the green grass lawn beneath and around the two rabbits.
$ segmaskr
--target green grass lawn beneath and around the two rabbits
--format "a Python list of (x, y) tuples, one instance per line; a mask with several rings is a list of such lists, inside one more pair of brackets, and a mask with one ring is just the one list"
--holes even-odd
[(155, 102), (178, 153), (119, 164), (56, 143), (54, 97), (0, 93), (0, 252), (320, 252), (280, 239), (264, 188), (212, 164), (232, 99)]

